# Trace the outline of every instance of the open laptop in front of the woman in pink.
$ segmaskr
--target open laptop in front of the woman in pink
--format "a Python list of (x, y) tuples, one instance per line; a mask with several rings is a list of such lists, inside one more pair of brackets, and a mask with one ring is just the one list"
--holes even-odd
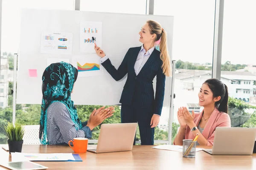
[(216, 127), (212, 149), (204, 149), (212, 155), (251, 155), (256, 128)]

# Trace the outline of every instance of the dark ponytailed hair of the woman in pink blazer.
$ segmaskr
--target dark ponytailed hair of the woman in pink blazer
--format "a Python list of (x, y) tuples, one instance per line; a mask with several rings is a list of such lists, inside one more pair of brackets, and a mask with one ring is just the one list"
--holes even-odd
[(227, 85), (218, 79), (207, 79), (204, 83), (211, 89), (213, 97), (221, 96), (221, 99), (215, 102), (215, 107), (218, 108), (219, 111), (227, 113)]

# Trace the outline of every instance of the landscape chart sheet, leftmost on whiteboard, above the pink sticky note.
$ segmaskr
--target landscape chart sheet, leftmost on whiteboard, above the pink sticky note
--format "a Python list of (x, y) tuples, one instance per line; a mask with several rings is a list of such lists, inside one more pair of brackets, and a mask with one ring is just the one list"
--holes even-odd
[(41, 53), (47, 54), (72, 54), (72, 33), (42, 33)]

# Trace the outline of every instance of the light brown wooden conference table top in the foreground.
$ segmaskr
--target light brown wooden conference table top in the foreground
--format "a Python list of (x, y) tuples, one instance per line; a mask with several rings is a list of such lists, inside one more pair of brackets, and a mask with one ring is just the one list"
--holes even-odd
[[(11, 155), (0, 145), (0, 162), (11, 161)], [(81, 153), (82, 162), (36, 162), (59, 170), (256, 170), (256, 154), (250, 156), (212, 156), (204, 151), (195, 158), (183, 158), (182, 153), (133, 147), (132, 151), (116, 153)], [(204, 147), (211, 148), (211, 147)], [(23, 145), (25, 153), (73, 153), (69, 146)], [(5, 169), (0, 166), (0, 169)]]

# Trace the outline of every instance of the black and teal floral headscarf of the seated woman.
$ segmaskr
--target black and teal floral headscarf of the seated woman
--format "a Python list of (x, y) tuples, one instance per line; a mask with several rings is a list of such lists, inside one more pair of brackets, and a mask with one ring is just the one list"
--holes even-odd
[(66, 62), (53, 63), (45, 69), (42, 76), (43, 99), (39, 131), (41, 144), (49, 144), (47, 141), (47, 108), (53, 102), (61, 102), (66, 105), (76, 129), (81, 129), (81, 122), (70, 97), (77, 75), (78, 70)]

